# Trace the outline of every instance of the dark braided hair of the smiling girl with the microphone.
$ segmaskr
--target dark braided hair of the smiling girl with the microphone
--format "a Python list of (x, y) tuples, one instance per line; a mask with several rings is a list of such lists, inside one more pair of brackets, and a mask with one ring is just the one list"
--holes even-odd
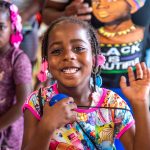
[[(49, 33), (60, 22), (74, 23), (74, 24), (78, 24), (81, 27), (83, 27), (87, 31), (87, 37), (89, 39), (89, 42), (91, 43), (93, 55), (97, 56), (98, 54), (101, 53), (100, 44), (98, 42), (96, 32), (95, 32), (94, 28), (89, 23), (82, 21), (82, 20), (79, 20), (78, 18), (75, 18), (75, 17), (61, 17), (61, 18), (53, 21), (50, 24), (49, 28), (47, 29), (47, 32), (45, 32), (45, 34), (44, 34), (44, 37), (42, 40), (42, 61), (46, 61), (48, 59), (48, 36), (49, 36)], [(96, 90), (96, 75), (98, 73), (100, 73), (100, 67), (97, 66), (97, 60), (95, 60), (95, 64), (94, 64), (94, 67), (92, 70), (94, 90)]]

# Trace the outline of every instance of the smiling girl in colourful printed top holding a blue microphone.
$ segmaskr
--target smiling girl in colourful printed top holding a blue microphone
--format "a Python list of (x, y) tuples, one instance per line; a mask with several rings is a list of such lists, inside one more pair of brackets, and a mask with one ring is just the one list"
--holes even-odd
[[(134, 76), (129, 67), (130, 86), (121, 78), (134, 120), (117, 94), (97, 86), (96, 76), (104, 63), (100, 53), (96, 34), (87, 23), (60, 18), (50, 25), (43, 39), (43, 65), (46, 68), (48, 62), (57, 82), (33, 92), (26, 101), (22, 149), (112, 150), (115, 138), (127, 150), (150, 149), (150, 70), (138, 63)], [(54, 104), (60, 93), (68, 97)]]

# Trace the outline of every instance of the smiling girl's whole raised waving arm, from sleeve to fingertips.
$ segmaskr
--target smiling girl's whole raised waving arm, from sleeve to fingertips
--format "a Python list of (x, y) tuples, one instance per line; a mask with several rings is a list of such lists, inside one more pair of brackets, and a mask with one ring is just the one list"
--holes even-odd
[[(130, 86), (121, 78), (120, 86), (130, 100), (134, 112), (135, 128), (131, 127), (121, 137), (127, 150), (150, 150), (149, 92), (150, 69), (145, 63), (136, 64), (136, 77), (131, 67), (128, 68)], [(136, 79), (140, 80), (136, 80)]]

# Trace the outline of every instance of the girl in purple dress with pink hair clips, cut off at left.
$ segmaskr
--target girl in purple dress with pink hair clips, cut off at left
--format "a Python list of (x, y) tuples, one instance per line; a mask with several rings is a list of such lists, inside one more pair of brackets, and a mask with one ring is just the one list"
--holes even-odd
[(17, 7), (0, 1), (0, 149), (20, 150), (21, 106), (31, 92), (31, 64), (18, 48), (22, 40)]

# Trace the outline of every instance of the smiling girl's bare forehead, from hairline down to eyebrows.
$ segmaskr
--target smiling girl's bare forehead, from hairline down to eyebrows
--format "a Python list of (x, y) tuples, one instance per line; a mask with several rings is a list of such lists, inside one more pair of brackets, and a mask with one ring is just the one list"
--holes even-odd
[(49, 45), (54, 43), (85, 43), (88, 46), (91, 45), (90, 36), (87, 30), (80, 24), (63, 22), (57, 24), (48, 35)]

